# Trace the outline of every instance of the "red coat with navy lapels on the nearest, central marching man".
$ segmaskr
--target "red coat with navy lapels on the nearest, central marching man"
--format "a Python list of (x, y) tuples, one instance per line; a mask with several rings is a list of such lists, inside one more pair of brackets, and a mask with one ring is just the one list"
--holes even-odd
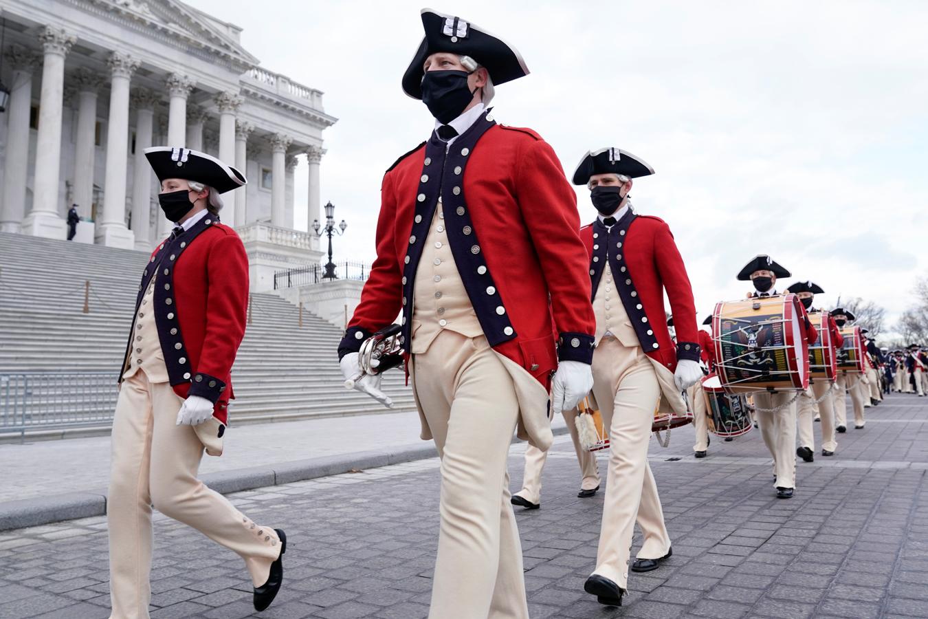
[[(559, 357), (591, 362), (596, 319), (576, 194), (554, 150), (534, 131), (497, 125), (487, 114), (447, 152), (432, 135), (387, 171), (380, 200), (377, 260), (340, 356), (356, 352), (401, 310), (408, 354), (422, 241), (442, 208), (458, 272), (490, 345), (546, 386)], [(560, 334), (560, 349), (553, 333)]]

